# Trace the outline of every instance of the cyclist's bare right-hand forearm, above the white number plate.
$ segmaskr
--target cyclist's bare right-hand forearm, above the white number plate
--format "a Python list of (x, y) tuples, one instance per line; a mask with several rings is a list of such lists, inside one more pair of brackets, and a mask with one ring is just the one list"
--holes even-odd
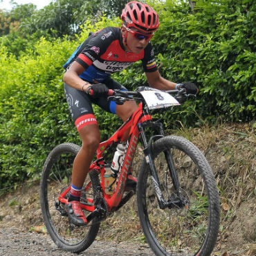
[(153, 88), (159, 90), (174, 90), (176, 83), (166, 80), (165, 78), (161, 77), (158, 70), (154, 72), (145, 72), (147, 77), (147, 82)]

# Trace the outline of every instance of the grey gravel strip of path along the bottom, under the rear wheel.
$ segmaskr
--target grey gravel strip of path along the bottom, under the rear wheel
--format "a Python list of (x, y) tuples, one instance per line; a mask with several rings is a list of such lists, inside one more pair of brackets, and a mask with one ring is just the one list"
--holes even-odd
[[(58, 249), (48, 235), (36, 232), (22, 232), (18, 228), (1, 228), (0, 256), (75, 256)], [(147, 245), (122, 242), (116, 244), (94, 241), (79, 255), (84, 256), (154, 256)]]

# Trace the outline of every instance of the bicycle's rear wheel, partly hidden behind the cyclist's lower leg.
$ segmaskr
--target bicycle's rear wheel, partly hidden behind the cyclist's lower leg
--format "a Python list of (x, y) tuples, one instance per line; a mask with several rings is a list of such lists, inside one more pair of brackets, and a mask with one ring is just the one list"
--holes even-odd
[[(88, 248), (100, 228), (96, 219), (88, 226), (79, 227), (69, 223), (64, 204), (58, 201), (59, 195), (71, 184), (73, 161), (79, 150), (80, 147), (73, 143), (55, 147), (46, 158), (40, 183), (41, 208), (48, 233), (59, 248), (73, 253), (80, 253)], [(87, 175), (84, 184), (90, 182), (90, 176)], [(81, 203), (93, 201), (93, 191), (92, 184), (89, 190), (82, 192)], [(84, 214), (86, 216), (89, 212), (84, 211)]]

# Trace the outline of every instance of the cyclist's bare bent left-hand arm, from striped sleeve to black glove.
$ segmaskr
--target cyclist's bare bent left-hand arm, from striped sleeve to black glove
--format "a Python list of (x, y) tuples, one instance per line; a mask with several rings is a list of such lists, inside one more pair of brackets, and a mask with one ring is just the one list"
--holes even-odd
[(63, 81), (77, 90), (82, 91), (82, 89), (84, 89), (84, 91), (86, 91), (86, 89), (91, 86), (91, 84), (86, 84), (86, 82), (84, 82), (84, 80), (79, 77), (79, 75), (82, 74), (84, 71), (85, 68), (81, 64), (79, 64), (78, 62), (73, 62), (71, 67), (68, 68), (66, 73), (64, 73)]

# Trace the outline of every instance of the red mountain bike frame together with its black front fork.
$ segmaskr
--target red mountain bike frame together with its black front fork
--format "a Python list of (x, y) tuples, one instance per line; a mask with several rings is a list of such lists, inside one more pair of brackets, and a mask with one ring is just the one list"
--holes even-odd
[[(146, 122), (148, 121), (148, 122)], [(147, 138), (145, 136), (144, 127), (151, 127), (158, 129), (159, 135), (152, 136), (149, 139), (149, 142), (147, 142)], [(129, 131), (129, 139), (127, 140), (127, 146), (125, 148), (125, 154), (124, 159), (122, 160), (120, 170), (118, 172), (118, 176), (115, 181), (115, 188), (113, 191), (113, 194), (105, 194), (104, 192), (104, 157), (103, 152), (112, 145), (112, 143), (120, 143), (124, 141), (126, 132)], [(158, 199), (158, 204), (161, 209), (166, 207), (172, 207), (173, 202), (168, 200), (165, 201), (163, 198), (163, 193), (161, 191), (161, 188), (159, 187), (159, 180), (158, 175), (156, 172), (156, 167), (154, 165), (153, 161), (153, 152), (152, 152), (152, 143), (154, 140), (158, 138), (162, 138), (165, 136), (163, 125), (159, 122), (152, 121), (152, 116), (148, 113), (147, 109), (144, 108), (144, 103), (140, 102), (138, 104), (138, 109), (134, 112), (134, 114), (129, 118), (116, 132), (109, 138), (108, 140), (105, 140), (104, 142), (100, 143), (97, 151), (96, 151), (96, 161), (93, 161), (89, 167), (89, 172), (92, 170), (98, 170), (98, 173), (101, 175), (101, 190), (104, 197), (104, 200), (107, 203), (108, 211), (111, 212), (113, 209), (120, 208), (120, 205), (123, 205), (122, 195), (125, 190), (125, 183), (127, 181), (127, 176), (129, 172), (129, 167), (131, 166), (131, 163), (134, 158), (134, 153), (136, 151), (136, 147), (138, 145), (138, 138), (139, 136), (142, 136), (143, 139), (143, 146), (144, 146), (144, 154), (145, 159), (147, 161), (147, 164), (149, 165), (150, 175), (152, 178), (152, 182), (154, 183), (154, 188), (156, 192), (156, 196)], [(176, 174), (176, 170), (174, 167), (174, 162), (172, 159), (172, 155), (169, 154), (170, 149), (167, 149), (165, 151), (165, 158), (167, 160), (167, 164), (170, 170), (170, 175), (172, 177), (172, 182), (174, 184), (174, 188), (176, 190), (176, 193), (179, 195), (179, 178)], [(91, 186), (91, 182), (89, 184), (86, 184), (85, 192), (89, 190)], [(66, 200), (64, 196), (68, 193), (70, 190), (70, 186), (60, 194), (58, 200), (62, 203), (66, 203)], [(94, 201), (93, 199), (87, 199), (89, 203), (81, 203), (81, 207), (84, 210), (87, 210), (89, 212), (95, 211)]]

